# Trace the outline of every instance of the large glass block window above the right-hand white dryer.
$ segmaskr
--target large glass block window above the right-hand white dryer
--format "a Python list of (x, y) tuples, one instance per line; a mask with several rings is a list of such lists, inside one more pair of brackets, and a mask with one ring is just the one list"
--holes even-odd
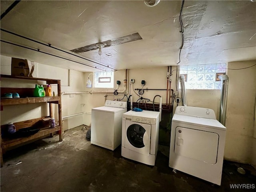
[(180, 66), (186, 89), (221, 89), (219, 75), (226, 74), (226, 64)]

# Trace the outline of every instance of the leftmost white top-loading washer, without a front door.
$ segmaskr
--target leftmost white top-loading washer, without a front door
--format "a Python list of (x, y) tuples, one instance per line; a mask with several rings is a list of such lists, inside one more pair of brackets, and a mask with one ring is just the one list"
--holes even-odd
[(126, 102), (106, 100), (105, 106), (92, 108), (91, 144), (114, 150), (121, 144), (122, 115)]

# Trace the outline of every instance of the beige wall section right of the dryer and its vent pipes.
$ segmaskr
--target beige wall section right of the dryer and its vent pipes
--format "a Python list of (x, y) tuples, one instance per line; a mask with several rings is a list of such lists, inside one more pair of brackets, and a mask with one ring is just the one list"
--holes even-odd
[[(252, 66), (256, 61), (229, 62), (228, 68)], [(256, 66), (228, 70), (228, 103), (226, 113), (226, 146), (224, 158), (256, 165), (255, 98)]]

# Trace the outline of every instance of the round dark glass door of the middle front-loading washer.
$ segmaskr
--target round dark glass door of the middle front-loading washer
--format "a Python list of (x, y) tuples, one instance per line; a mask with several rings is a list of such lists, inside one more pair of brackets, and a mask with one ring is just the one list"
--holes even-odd
[(136, 148), (143, 148), (148, 143), (148, 133), (138, 124), (130, 125), (127, 128), (126, 135), (130, 144)]

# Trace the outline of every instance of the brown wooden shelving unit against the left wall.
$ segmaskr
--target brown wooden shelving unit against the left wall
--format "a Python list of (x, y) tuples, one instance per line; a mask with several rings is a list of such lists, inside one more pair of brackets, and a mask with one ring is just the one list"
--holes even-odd
[[(44, 79), (44, 78), (32, 78), (32, 77), (22, 77), (22, 76), (10, 76), (10, 75), (1, 75), (2, 78), (12, 78), (12, 79), (24, 79), (24, 80), (40, 80), (40, 81), (46, 81), (46, 84), (57, 84), (58, 86), (58, 96), (48, 96), (48, 97), (33, 97), (33, 88), (3, 88), (1, 87), (1, 94), (2, 93), (18, 93), (20, 95), (20, 98), (8, 98), (3, 99), (1, 98), (0, 106), (1, 110), (4, 110), (4, 106), (6, 105), (17, 105), (17, 104), (31, 104), (31, 103), (40, 103), (40, 102), (47, 102), (49, 103), (49, 110), (50, 110), (50, 116), (48, 117), (41, 117), (31, 120), (26, 120), (22, 122), (16, 122), (14, 125), (16, 126), (16, 131), (22, 129), (22, 128), (36, 128), (40, 129), (35, 134), (32, 134), (30, 136), (25, 136), (21, 138), (11, 138), (6, 137), (2, 138), (2, 134), (0, 137), (0, 143), (1, 143), (1, 167), (3, 165), (2, 160), (2, 154), (10, 149), (14, 148), (15, 146), (20, 146), (22, 144), (26, 144), (29, 141), (36, 140), (38, 138), (46, 137), (49, 135), (53, 135), (54, 132), (57, 132), (59, 134), (59, 140), (62, 141), (62, 108), (61, 108), (61, 84), (60, 80), (55, 79)], [(58, 104), (58, 119), (59, 119), (59, 125), (55, 128), (50, 128), (45, 122), (45, 118), (53, 117), (53, 111), (52, 111), (52, 104)], [(7, 125), (2, 125), (0, 131), (5, 131)]]

